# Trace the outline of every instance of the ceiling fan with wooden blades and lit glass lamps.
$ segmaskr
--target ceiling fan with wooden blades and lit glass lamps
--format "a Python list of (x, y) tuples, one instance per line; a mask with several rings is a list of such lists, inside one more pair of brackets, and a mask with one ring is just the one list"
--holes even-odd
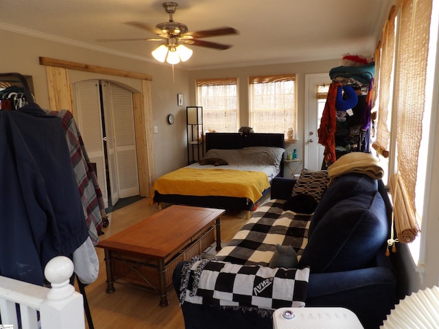
[(160, 38), (147, 38), (147, 41), (162, 41), (164, 42), (157, 49), (152, 51), (152, 56), (160, 62), (169, 64), (177, 64), (189, 60), (192, 56), (192, 50), (182, 44), (194, 45), (198, 47), (208, 47), (213, 49), (224, 50), (232, 47), (231, 45), (223, 45), (216, 42), (209, 42), (200, 40), (201, 38), (208, 38), (212, 36), (225, 36), (228, 34), (238, 34), (236, 29), (232, 27), (221, 27), (218, 29), (208, 29), (198, 32), (189, 32), (187, 25), (174, 21), (173, 14), (176, 12), (178, 3), (165, 2), (163, 8), (169, 14), (169, 21), (158, 23), (154, 28), (139, 22), (130, 22), (128, 24), (141, 29), (157, 34)]

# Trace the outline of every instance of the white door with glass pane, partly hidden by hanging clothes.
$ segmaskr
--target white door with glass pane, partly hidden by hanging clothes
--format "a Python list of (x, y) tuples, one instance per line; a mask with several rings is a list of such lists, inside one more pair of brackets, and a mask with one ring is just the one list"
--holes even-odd
[(318, 99), (317, 87), (331, 84), (329, 73), (305, 75), (305, 156), (304, 168), (320, 170), (323, 163), (324, 147), (318, 143), (317, 130), (326, 99)]

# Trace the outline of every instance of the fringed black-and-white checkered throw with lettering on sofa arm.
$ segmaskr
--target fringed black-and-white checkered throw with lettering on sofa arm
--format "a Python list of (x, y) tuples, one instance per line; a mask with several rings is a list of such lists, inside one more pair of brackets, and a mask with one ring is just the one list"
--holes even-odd
[(268, 316), (276, 308), (305, 306), (308, 279), (309, 267), (272, 269), (195, 256), (182, 269), (180, 304), (258, 308), (261, 316)]

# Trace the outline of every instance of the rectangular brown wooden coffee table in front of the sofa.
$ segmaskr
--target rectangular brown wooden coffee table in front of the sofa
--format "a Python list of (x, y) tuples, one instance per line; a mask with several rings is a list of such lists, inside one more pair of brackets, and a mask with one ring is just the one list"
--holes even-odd
[(221, 221), (225, 210), (190, 206), (169, 206), (108, 239), (104, 248), (107, 293), (114, 282), (156, 291), (160, 306), (167, 306), (172, 272), (182, 260), (191, 260), (215, 242), (221, 249)]

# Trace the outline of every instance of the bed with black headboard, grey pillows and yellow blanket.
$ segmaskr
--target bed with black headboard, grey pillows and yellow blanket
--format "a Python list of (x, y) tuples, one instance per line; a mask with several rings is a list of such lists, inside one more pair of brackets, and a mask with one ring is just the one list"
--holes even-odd
[[(260, 200), (270, 191), (272, 178), (283, 176), (284, 134), (206, 133), (205, 145), (204, 159), (222, 158), (230, 163), (214, 166), (197, 162), (167, 173), (154, 182), (154, 197), (150, 203), (157, 202), (159, 207), (169, 203), (247, 210), (249, 217), (250, 210), (257, 208)], [(239, 157), (242, 160), (238, 161)], [(250, 159), (259, 159), (256, 167), (249, 165)], [(267, 159), (273, 160), (275, 169), (265, 167), (263, 162)], [(219, 178), (214, 178), (215, 175)], [(235, 182), (225, 182), (227, 178), (233, 178)], [(218, 186), (224, 184), (235, 185), (223, 191)], [(248, 186), (251, 186), (250, 191), (246, 188)]]

